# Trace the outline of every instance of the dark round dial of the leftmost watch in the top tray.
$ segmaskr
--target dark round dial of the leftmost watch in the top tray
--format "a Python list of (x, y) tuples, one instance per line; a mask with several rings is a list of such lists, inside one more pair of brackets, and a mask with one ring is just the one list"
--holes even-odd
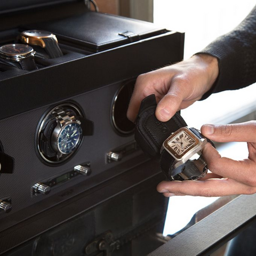
[(0, 53), (7, 56), (23, 56), (33, 53), (34, 49), (26, 44), (6, 44), (0, 47)]

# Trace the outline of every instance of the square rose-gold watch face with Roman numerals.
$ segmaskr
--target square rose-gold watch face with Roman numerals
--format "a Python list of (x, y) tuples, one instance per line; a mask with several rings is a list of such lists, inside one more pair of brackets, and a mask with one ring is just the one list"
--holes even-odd
[(174, 132), (164, 142), (164, 147), (175, 158), (181, 159), (191, 149), (199, 143), (198, 138), (188, 128), (182, 127), (177, 132)]

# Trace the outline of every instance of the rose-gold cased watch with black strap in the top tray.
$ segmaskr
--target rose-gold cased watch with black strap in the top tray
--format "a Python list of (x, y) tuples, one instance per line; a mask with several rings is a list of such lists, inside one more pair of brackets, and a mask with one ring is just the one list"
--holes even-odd
[(57, 37), (49, 31), (25, 30), (20, 33), (19, 40), (25, 44), (40, 46), (46, 51), (50, 59), (63, 55), (58, 45)]

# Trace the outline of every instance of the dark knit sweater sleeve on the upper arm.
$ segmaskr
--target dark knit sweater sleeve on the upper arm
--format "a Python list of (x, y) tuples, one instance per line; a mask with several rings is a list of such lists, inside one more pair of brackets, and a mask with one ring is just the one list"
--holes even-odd
[(219, 61), (217, 81), (202, 99), (211, 93), (236, 90), (256, 82), (256, 6), (234, 30), (198, 53), (213, 55)]

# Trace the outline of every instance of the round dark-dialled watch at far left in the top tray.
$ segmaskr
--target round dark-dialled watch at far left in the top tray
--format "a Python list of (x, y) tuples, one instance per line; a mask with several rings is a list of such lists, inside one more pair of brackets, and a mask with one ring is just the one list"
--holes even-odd
[(0, 58), (11, 66), (23, 69), (37, 69), (34, 49), (26, 44), (6, 44), (0, 47)]

